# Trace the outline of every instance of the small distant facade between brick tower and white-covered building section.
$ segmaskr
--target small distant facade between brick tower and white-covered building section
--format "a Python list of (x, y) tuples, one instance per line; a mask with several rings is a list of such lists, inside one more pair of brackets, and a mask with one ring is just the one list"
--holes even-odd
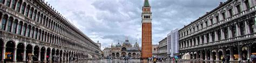
[(167, 58), (167, 37), (159, 42), (159, 53), (157, 54), (158, 57), (165, 57)]

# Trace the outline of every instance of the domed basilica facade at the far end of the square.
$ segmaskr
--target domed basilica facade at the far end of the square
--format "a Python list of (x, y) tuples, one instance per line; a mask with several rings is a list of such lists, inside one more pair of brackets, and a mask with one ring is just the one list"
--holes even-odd
[(129, 40), (125, 40), (122, 44), (118, 42), (116, 46), (111, 45), (110, 57), (116, 58), (123, 58), (123, 57), (130, 57), (130, 58), (140, 58), (141, 49), (139, 48), (139, 44), (136, 42), (132, 45)]

